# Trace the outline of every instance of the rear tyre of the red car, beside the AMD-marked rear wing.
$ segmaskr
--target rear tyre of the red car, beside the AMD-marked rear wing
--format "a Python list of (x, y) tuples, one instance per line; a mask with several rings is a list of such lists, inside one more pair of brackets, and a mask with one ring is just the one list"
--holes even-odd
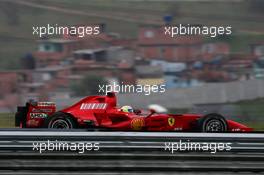
[(52, 129), (73, 129), (77, 128), (77, 123), (71, 116), (65, 113), (55, 112), (44, 121), (43, 127)]

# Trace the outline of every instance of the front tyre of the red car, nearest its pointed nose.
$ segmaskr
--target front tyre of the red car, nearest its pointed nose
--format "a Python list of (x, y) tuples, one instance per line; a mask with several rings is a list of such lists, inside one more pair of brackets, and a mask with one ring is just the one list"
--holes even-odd
[(212, 113), (198, 120), (198, 130), (211, 133), (227, 132), (228, 124), (222, 115)]

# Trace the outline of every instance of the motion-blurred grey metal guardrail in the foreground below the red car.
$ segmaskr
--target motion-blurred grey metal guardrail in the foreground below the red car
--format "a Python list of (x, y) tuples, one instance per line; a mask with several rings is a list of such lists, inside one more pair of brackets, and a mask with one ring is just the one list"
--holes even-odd
[[(97, 151), (33, 150), (33, 143), (100, 143)], [(165, 150), (165, 143), (231, 143), (229, 151)], [(0, 130), (0, 174), (264, 174), (264, 134)]]

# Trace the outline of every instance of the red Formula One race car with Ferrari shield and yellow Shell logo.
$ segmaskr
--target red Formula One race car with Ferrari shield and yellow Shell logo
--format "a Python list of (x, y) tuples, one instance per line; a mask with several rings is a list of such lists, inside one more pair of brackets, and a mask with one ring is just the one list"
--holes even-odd
[(142, 114), (116, 106), (115, 93), (89, 96), (56, 111), (51, 102), (27, 102), (18, 107), (16, 126), (22, 128), (104, 128), (116, 131), (249, 132), (251, 128), (226, 120), (219, 114)]

